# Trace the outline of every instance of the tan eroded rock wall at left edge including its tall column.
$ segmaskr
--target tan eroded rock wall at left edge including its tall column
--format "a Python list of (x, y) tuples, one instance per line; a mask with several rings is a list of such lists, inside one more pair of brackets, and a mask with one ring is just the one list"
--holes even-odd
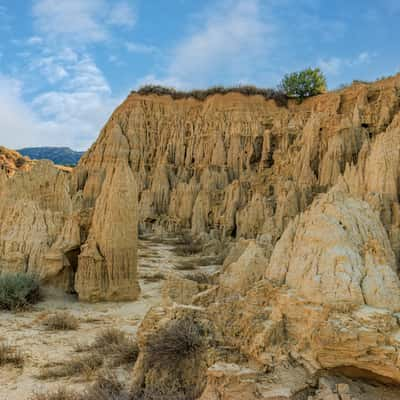
[(137, 191), (124, 143), (93, 172), (95, 193), (86, 175), (50, 161), (0, 171), (0, 272), (38, 275), (82, 300), (137, 298)]

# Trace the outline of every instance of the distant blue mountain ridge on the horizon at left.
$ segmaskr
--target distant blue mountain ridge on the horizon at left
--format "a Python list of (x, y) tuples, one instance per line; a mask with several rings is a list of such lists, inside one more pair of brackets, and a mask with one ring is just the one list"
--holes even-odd
[(32, 160), (46, 159), (60, 165), (76, 165), (84, 154), (69, 147), (26, 147), (17, 151)]

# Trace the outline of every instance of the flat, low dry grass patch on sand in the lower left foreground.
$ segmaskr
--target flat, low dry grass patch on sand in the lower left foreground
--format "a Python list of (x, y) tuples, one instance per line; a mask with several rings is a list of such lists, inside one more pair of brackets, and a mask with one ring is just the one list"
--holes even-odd
[(45, 365), (38, 376), (39, 379), (57, 379), (85, 375), (91, 377), (103, 365), (100, 354), (90, 352), (84, 356), (71, 358), (62, 363)]

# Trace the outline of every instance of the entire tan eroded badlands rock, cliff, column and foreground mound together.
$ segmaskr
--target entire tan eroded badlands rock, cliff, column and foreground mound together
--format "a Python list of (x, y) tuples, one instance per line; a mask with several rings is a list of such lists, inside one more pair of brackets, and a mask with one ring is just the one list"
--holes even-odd
[[(229, 249), (207, 284), (165, 282), (137, 334), (134, 387), (400, 396), (362, 386), (400, 384), (400, 75), (301, 104), (132, 93), (72, 172), (37, 161), (0, 182), (2, 271), (81, 300), (138, 298), (138, 229)], [(171, 367), (150, 342), (177, 319), (202, 340)]]

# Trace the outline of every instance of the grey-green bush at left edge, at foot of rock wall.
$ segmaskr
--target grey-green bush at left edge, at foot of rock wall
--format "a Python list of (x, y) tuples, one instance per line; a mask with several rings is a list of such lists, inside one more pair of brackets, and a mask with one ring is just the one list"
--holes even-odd
[(40, 285), (35, 276), (24, 273), (0, 276), (0, 309), (21, 310), (39, 300)]

